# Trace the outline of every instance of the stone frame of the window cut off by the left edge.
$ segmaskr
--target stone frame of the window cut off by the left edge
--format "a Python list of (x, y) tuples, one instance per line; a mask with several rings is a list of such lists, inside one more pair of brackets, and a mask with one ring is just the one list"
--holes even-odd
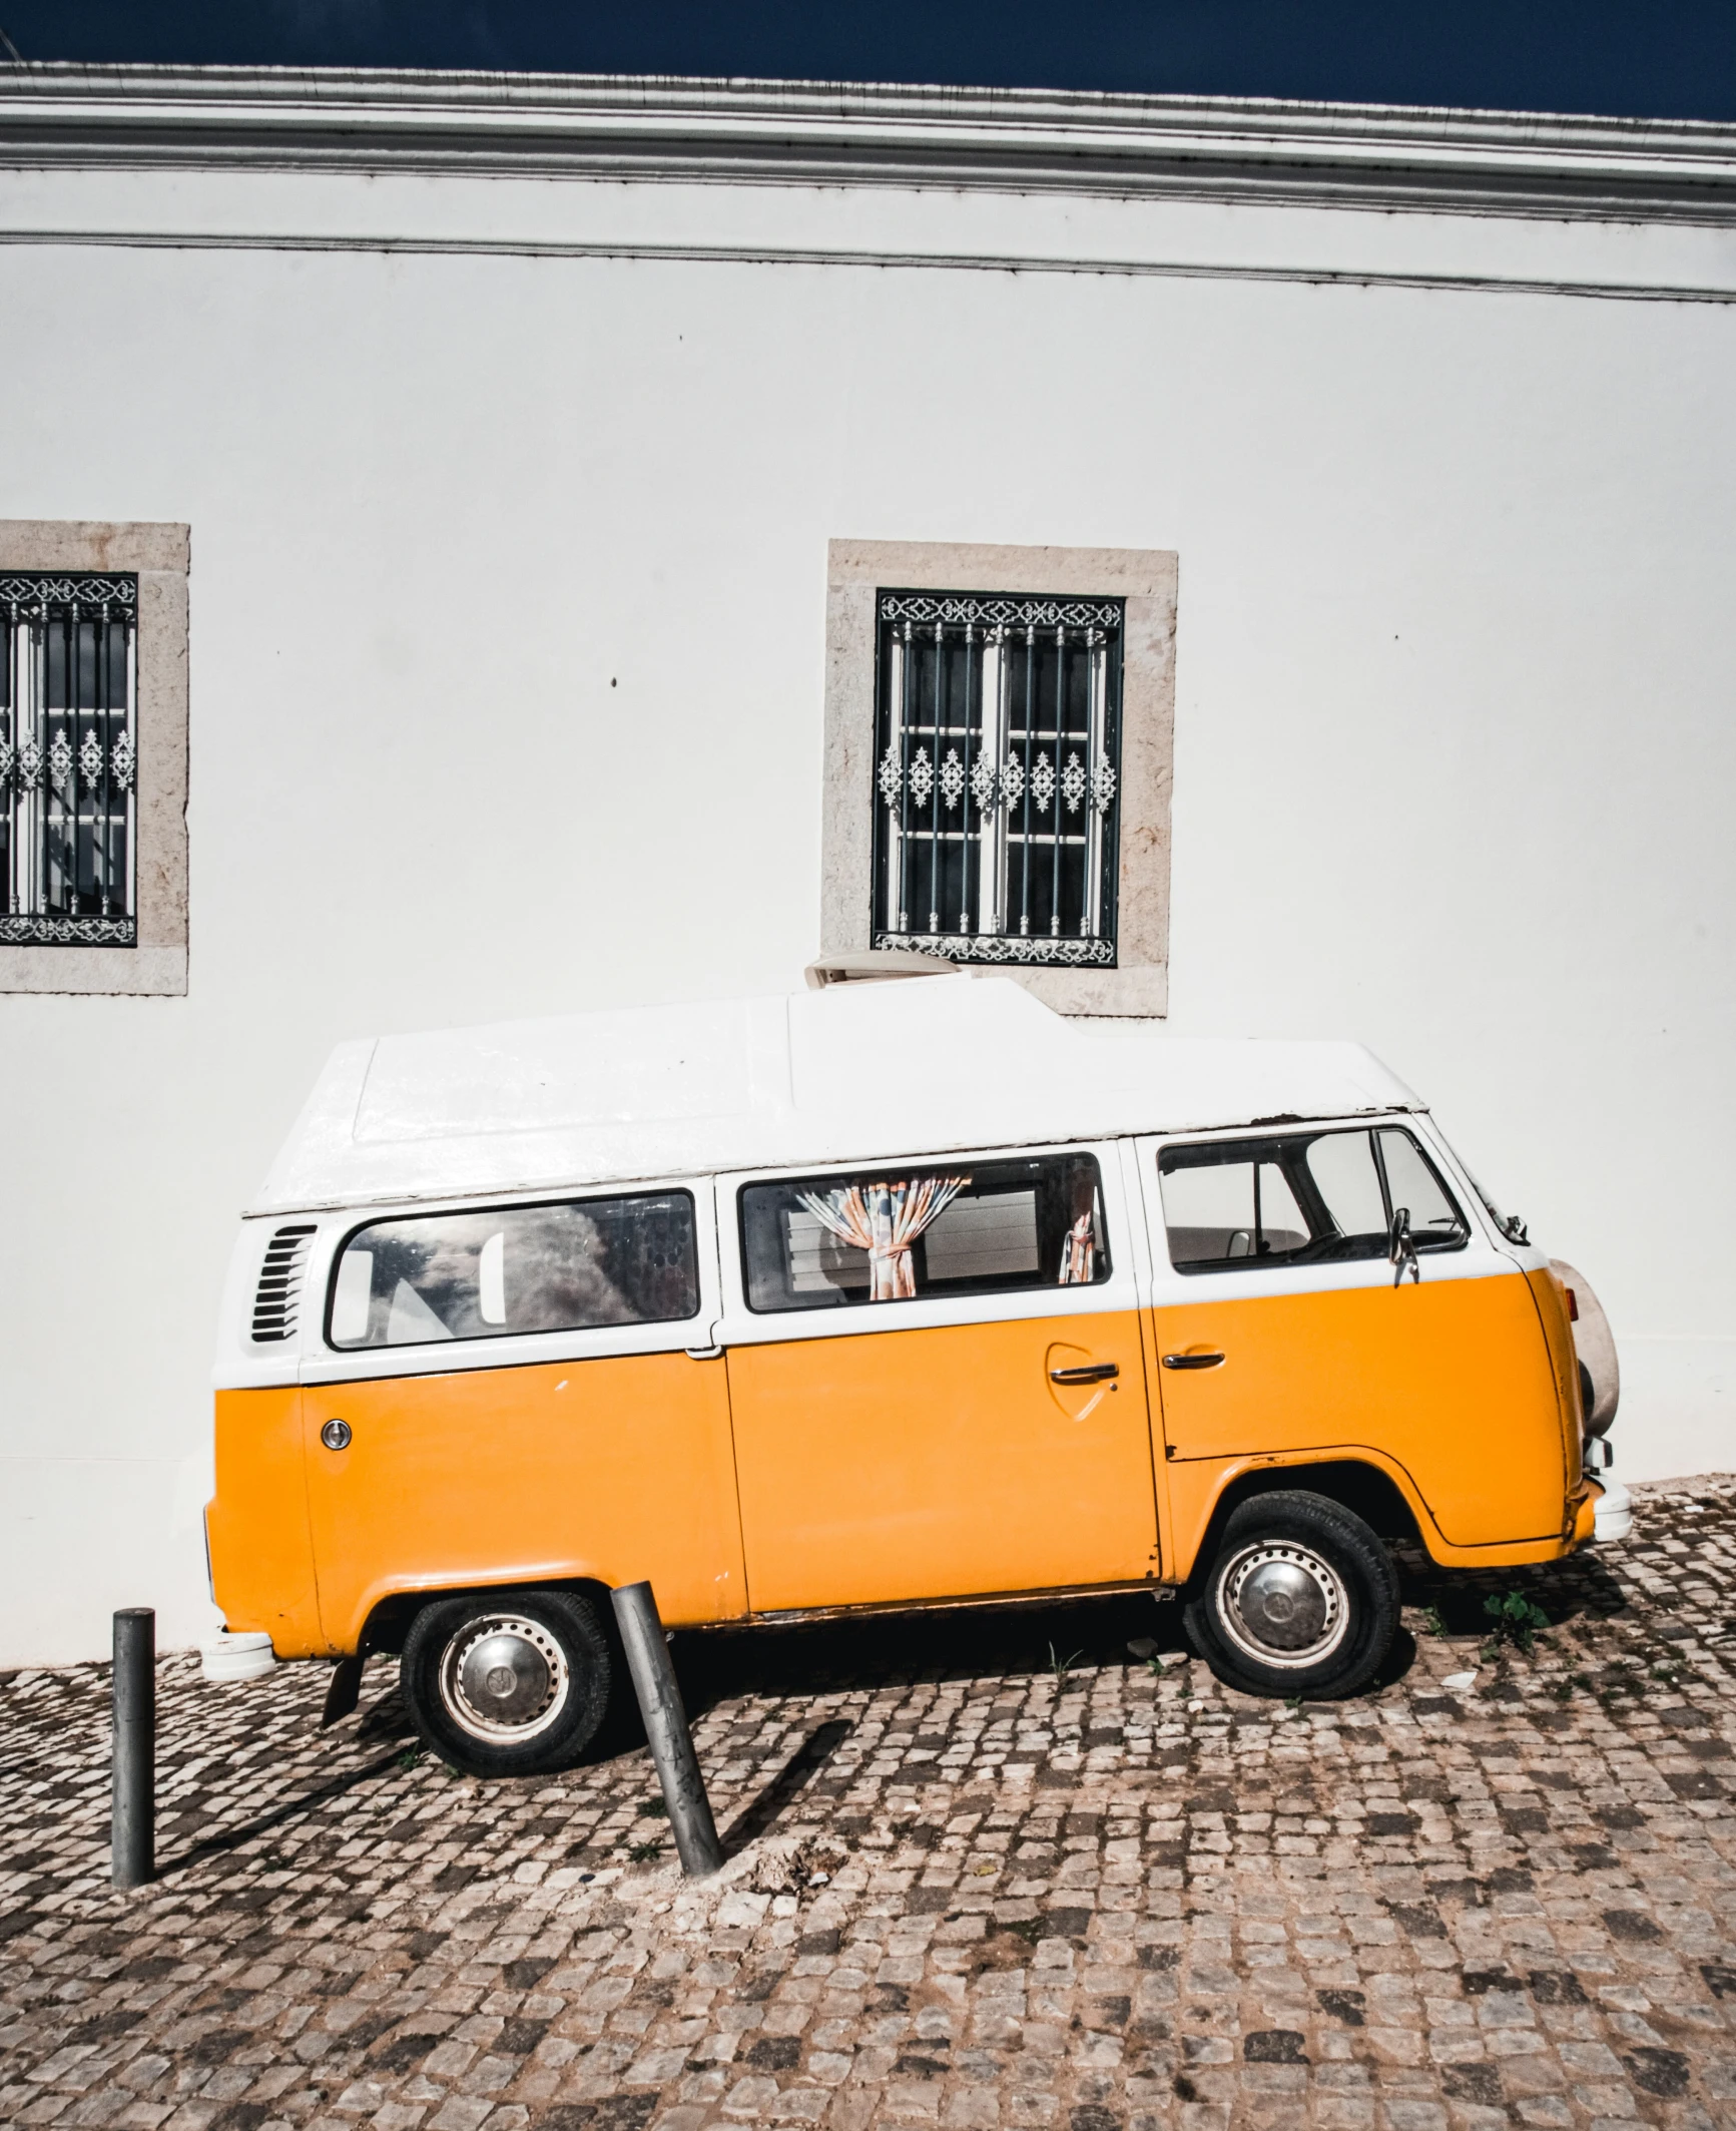
[(0, 946), (0, 993), (179, 997), (187, 989), (187, 573), (183, 524), (0, 518), (0, 571), (138, 578), (136, 946)]

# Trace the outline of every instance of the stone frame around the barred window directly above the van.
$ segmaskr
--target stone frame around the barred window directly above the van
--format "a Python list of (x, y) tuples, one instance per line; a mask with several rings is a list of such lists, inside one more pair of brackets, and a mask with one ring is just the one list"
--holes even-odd
[(1169, 1010), (1169, 788), (1176, 754), (1176, 590), (1169, 548), (1003, 548), (835, 539), (826, 546), (826, 739), (820, 953), (865, 955), (873, 906), (875, 592), (1123, 599), (1116, 967), (995, 963), (1061, 1014)]

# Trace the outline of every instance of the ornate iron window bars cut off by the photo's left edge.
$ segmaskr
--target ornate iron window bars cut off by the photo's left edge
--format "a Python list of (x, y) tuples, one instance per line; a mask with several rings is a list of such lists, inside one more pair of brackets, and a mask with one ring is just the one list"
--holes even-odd
[(0, 946), (134, 946), (138, 580), (0, 575)]

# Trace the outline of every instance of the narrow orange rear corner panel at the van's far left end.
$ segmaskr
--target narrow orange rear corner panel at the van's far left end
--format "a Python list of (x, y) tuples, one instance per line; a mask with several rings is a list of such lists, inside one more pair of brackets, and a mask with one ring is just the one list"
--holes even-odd
[(207, 1513), (211, 1583), (234, 1630), (264, 1630), (279, 1658), (326, 1647), (302, 1470), (302, 1394), (217, 1392), (217, 1494)]

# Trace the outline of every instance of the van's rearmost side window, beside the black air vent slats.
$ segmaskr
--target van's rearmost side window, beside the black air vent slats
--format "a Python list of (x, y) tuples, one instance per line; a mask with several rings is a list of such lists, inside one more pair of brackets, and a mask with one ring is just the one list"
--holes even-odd
[(332, 1347), (669, 1323), (699, 1311), (692, 1198), (492, 1206), (375, 1221), (332, 1274)]

